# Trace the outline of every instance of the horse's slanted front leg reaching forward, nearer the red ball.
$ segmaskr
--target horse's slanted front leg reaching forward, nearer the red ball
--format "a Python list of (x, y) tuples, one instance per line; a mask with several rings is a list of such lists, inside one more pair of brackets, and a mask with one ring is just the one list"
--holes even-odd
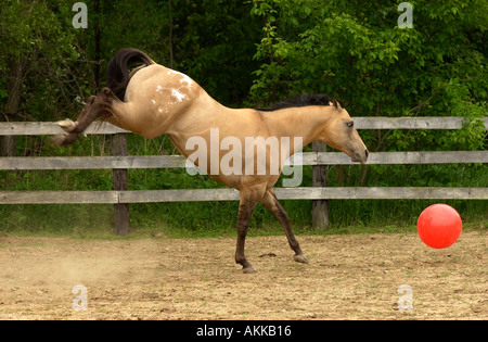
[(286, 239), (288, 240), (290, 248), (295, 252), (295, 256), (293, 259), (298, 263), (308, 264), (307, 258), (304, 255), (304, 252), (301, 252), (300, 245), (298, 241), (296, 240), (295, 236), (292, 231), (292, 226), (290, 225), (290, 218), (288, 215), (286, 215), (286, 212), (281, 206), (280, 202), (278, 202), (278, 199), (274, 194), (274, 191), (272, 189), (269, 189), (266, 191), (261, 203), (266, 206), (266, 208), (273, 214), (273, 216), (278, 219), (278, 221), (283, 227)]

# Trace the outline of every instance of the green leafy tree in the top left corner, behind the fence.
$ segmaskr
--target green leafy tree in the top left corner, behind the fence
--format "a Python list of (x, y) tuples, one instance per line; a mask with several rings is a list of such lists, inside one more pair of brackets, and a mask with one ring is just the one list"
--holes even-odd
[[(66, 60), (76, 55), (73, 36), (57, 15), (60, 2), (8, 0), (0, 7), (2, 121), (18, 119), (20, 113), (46, 119), (47, 107), (41, 103), (55, 102), (60, 96)], [(13, 138), (2, 140), (2, 154), (13, 155)]]

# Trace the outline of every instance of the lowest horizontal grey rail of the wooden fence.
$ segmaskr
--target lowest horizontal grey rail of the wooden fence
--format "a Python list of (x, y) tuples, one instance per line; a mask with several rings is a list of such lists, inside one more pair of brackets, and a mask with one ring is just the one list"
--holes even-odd
[[(279, 200), (488, 200), (486, 188), (304, 187), (275, 188)], [(0, 191), (0, 204), (123, 204), (239, 201), (234, 189), (134, 191)]]

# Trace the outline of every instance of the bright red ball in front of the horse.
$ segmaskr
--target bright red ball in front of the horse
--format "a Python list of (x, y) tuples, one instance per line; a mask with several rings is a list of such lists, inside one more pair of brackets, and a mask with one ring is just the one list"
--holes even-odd
[(447, 204), (433, 204), (419, 216), (416, 231), (433, 249), (445, 249), (458, 241), (463, 224), (458, 212)]

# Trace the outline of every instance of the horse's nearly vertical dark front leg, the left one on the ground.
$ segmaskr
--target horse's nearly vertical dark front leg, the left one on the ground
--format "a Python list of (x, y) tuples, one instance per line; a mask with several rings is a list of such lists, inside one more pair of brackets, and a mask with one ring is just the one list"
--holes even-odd
[(256, 270), (244, 255), (244, 245), (249, 227), (251, 215), (262, 197), (264, 190), (249, 191), (241, 189), (241, 202), (239, 204), (237, 214), (237, 245), (235, 248), (235, 263), (242, 265), (245, 274), (254, 274)]

